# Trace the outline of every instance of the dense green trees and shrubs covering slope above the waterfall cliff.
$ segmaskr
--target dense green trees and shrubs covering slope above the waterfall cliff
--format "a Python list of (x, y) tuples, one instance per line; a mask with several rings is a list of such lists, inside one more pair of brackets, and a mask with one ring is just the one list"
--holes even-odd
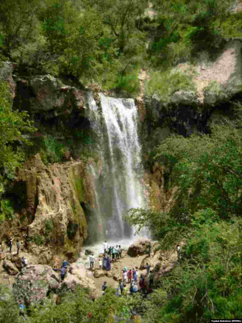
[[(139, 68), (166, 68), (211, 56), (241, 37), (233, 0), (21, 0), (0, 4), (0, 55), (19, 71), (69, 75), (136, 93)], [(154, 80), (152, 80), (154, 82)], [(155, 86), (156, 88), (156, 86)]]

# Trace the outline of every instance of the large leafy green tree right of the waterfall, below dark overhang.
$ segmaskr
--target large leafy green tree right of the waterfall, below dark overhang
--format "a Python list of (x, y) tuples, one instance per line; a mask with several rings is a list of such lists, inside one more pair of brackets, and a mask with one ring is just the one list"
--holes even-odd
[(156, 158), (170, 167), (172, 186), (178, 186), (178, 208), (194, 213), (212, 207), (223, 218), (241, 214), (241, 138), (240, 128), (224, 124), (211, 135), (172, 135), (158, 147)]

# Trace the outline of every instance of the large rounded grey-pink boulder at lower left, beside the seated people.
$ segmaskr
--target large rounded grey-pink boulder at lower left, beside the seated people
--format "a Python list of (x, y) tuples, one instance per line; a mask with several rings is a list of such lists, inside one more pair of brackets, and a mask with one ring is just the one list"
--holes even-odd
[(59, 288), (60, 277), (50, 266), (29, 265), (15, 277), (13, 292), (16, 299), (28, 299), (30, 303), (40, 303), (49, 292)]

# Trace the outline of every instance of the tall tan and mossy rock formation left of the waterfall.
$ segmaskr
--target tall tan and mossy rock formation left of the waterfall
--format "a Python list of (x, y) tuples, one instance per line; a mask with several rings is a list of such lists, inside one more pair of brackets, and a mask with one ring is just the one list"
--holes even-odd
[(87, 237), (81, 203), (94, 204), (94, 193), (82, 161), (46, 167), (37, 154), (19, 171), (12, 192), (25, 186), (29, 225), (28, 251), (39, 264), (55, 255), (74, 259)]

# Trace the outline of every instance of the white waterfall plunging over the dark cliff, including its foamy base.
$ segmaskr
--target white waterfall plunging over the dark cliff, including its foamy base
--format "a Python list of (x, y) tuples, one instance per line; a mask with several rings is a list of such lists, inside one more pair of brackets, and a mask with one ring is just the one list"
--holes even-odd
[[(144, 172), (133, 99), (99, 93), (101, 109), (90, 95), (89, 119), (98, 138), (100, 162), (89, 165), (95, 192), (95, 212), (85, 210), (88, 238), (84, 249), (102, 253), (102, 243), (127, 248), (140, 236), (123, 219), (130, 208), (145, 208)], [(147, 236), (147, 232), (143, 236)]]

